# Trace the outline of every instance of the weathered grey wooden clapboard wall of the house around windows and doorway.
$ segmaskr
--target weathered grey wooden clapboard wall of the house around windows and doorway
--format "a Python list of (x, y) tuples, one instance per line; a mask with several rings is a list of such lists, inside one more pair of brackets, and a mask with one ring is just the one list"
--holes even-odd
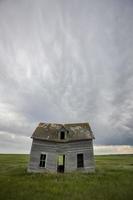
[[(40, 154), (46, 154), (46, 168), (39, 167)], [(57, 157), (65, 155), (65, 172), (77, 170), (77, 154), (84, 155), (83, 171), (94, 170), (93, 146), (91, 141), (76, 141), (71, 143), (50, 143), (47, 141), (33, 140), (30, 165), (28, 171), (57, 171)]]

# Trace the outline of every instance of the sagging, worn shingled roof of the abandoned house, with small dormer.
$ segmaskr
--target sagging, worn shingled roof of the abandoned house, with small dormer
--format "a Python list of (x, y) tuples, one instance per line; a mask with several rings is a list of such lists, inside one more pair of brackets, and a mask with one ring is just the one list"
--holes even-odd
[[(65, 131), (65, 139), (60, 139), (60, 131)], [(55, 142), (69, 142), (74, 140), (88, 140), (94, 139), (89, 123), (75, 123), (75, 124), (54, 124), (54, 123), (39, 123), (32, 138), (55, 141)]]

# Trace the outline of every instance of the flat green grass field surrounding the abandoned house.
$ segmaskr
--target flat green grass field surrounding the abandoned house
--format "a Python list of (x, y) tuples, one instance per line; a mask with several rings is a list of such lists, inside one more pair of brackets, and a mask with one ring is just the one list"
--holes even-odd
[(133, 155), (96, 156), (96, 173), (27, 173), (28, 155), (0, 155), (0, 200), (132, 200)]

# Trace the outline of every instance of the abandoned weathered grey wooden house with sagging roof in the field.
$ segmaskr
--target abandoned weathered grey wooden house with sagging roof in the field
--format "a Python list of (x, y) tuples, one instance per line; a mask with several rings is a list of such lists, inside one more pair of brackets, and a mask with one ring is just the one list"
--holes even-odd
[(88, 123), (40, 123), (32, 135), (29, 172), (95, 171)]

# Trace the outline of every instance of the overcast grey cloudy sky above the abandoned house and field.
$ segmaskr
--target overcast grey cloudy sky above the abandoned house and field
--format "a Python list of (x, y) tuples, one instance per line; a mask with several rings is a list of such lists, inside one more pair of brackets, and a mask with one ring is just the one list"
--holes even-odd
[(133, 145), (132, 0), (0, 0), (0, 151), (29, 152), (40, 121)]

